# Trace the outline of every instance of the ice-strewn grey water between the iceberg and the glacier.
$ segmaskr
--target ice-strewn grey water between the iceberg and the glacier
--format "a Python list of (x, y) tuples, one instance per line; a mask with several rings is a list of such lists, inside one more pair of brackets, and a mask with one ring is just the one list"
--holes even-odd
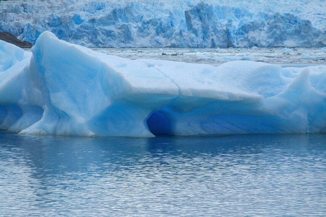
[[(325, 48), (92, 48), (128, 59), (156, 59), (220, 65), (234, 60), (251, 60), (285, 66), (325, 65)], [(162, 55), (163, 54), (163, 55)], [(166, 54), (166, 55), (164, 55)]]

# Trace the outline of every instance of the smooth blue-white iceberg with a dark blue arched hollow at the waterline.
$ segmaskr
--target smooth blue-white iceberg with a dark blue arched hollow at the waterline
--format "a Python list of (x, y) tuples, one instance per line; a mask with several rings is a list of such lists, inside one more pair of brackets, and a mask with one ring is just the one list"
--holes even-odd
[(129, 60), (50, 32), (31, 53), (0, 45), (1, 129), (91, 137), (326, 132), (324, 65)]

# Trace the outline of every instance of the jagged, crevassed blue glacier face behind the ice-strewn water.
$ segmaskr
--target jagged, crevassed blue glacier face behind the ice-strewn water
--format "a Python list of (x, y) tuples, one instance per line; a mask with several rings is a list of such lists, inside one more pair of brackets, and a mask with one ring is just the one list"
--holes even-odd
[(0, 31), (86, 47), (324, 47), (323, 0), (9, 0)]

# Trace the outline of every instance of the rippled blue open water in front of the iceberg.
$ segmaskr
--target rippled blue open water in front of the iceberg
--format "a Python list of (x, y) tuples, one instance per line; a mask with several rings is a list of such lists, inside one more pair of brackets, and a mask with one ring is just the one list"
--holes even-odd
[(325, 216), (326, 135), (0, 131), (0, 216)]

